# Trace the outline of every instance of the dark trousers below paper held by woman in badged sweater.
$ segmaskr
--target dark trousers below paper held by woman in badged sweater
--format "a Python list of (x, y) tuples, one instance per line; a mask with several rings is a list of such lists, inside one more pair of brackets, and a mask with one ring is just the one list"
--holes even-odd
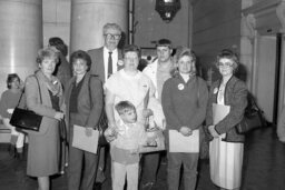
[(168, 190), (178, 190), (180, 169), (184, 167), (184, 189), (195, 190), (197, 181), (198, 153), (167, 152), (167, 183)]

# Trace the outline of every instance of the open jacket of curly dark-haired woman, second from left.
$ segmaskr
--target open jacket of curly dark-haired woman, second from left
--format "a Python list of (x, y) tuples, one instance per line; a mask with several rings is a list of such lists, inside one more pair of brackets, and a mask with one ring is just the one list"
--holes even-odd
[[(90, 78), (90, 83), (89, 83), (89, 78)], [(82, 80), (83, 80), (83, 83), (77, 99), (78, 101), (77, 102), (77, 111), (78, 111), (77, 124), (82, 127), (96, 128), (99, 122), (102, 108), (104, 108), (102, 82), (97, 77), (91, 77), (89, 72), (86, 73)], [(66, 110), (67, 110), (66, 119), (67, 119), (68, 126), (69, 126), (69, 119), (70, 119), (70, 114), (69, 114), (70, 94), (75, 83), (76, 83), (76, 77), (72, 77), (67, 84), (67, 90), (65, 96)], [(90, 100), (90, 96), (91, 96), (91, 100)]]

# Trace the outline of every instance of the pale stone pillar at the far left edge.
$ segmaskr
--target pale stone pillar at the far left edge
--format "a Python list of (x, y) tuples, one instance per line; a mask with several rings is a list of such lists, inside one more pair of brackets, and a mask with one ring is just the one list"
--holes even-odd
[(36, 70), (36, 56), (42, 46), (41, 0), (0, 1), (0, 92), (7, 89), (8, 73), (22, 80)]

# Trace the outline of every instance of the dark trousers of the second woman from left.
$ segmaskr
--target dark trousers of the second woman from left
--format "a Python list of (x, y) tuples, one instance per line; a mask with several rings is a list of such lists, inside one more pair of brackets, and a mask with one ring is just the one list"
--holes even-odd
[(70, 118), (68, 190), (79, 190), (80, 187), (82, 190), (92, 190), (99, 154), (72, 147), (73, 124), (77, 123), (77, 117), (71, 114)]

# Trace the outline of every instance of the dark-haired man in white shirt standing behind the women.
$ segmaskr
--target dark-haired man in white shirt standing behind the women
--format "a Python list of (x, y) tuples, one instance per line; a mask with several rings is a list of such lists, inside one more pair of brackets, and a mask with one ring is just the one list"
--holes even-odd
[[(149, 63), (144, 73), (148, 76), (156, 87), (156, 98), (161, 102), (163, 86), (171, 77), (174, 61), (171, 58), (173, 46), (168, 39), (160, 39), (156, 44), (157, 58)], [(156, 182), (156, 174), (159, 167), (160, 152), (150, 152), (142, 156), (141, 188), (150, 190)]]

